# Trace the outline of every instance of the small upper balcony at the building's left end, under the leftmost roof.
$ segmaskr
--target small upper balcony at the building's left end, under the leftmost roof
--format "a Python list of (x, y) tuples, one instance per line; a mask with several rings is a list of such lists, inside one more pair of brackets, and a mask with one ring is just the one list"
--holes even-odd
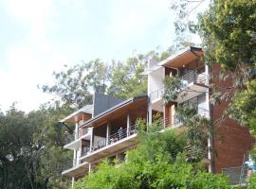
[(80, 129), (78, 132), (78, 138), (76, 139), (75, 134), (66, 134), (66, 149), (79, 149), (81, 146), (82, 139), (90, 140), (91, 131), (89, 129)]

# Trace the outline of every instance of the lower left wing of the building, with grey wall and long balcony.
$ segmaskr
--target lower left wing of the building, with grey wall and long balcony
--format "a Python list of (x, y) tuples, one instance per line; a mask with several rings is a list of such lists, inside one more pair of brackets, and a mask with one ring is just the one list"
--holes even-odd
[(74, 151), (73, 161), (63, 175), (78, 180), (102, 159), (124, 159), (124, 151), (137, 145), (138, 118), (147, 118), (148, 96), (127, 100), (106, 94), (94, 94), (93, 104), (87, 105), (63, 120), (76, 125), (75, 135), (64, 146)]

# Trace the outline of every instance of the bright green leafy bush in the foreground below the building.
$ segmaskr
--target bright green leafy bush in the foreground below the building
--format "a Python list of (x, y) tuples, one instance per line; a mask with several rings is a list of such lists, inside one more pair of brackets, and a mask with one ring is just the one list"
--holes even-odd
[(127, 152), (125, 163), (105, 161), (74, 188), (230, 188), (224, 176), (206, 173), (203, 166), (186, 161), (182, 136), (174, 130), (155, 132), (155, 126), (151, 128), (140, 133), (140, 143)]

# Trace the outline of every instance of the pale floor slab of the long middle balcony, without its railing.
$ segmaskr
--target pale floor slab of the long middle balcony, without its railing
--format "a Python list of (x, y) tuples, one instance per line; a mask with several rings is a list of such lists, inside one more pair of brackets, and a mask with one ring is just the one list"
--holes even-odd
[(133, 134), (124, 139), (119, 140), (109, 146), (104, 146), (101, 149), (93, 151), (80, 158), (80, 161), (85, 161), (89, 163), (97, 162), (103, 158), (107, 158), (121, 150), (127, 149), (132, 146), (137, 145), (137, 134)]

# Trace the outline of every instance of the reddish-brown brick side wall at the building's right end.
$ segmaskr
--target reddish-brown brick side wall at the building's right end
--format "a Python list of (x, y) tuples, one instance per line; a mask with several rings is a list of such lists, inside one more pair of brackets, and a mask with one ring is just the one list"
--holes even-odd
[[(216, 77), (219, 71), (220, 66), (218, 64), (212, 66), (212, 82), (222, 87), (232, 86), (230, 79), (219, 81)], [(248, 129), (243, 128), (228, 117), (221, 121), (221, 117), (228, 106), (228, 102), (212, 106), (212, 121), (215, 131), (213, 137), (215, 173), (221, 173), (222, 168), (242, 166), (244, 154), (247, 153), (253, 144), (253, 139)]]

